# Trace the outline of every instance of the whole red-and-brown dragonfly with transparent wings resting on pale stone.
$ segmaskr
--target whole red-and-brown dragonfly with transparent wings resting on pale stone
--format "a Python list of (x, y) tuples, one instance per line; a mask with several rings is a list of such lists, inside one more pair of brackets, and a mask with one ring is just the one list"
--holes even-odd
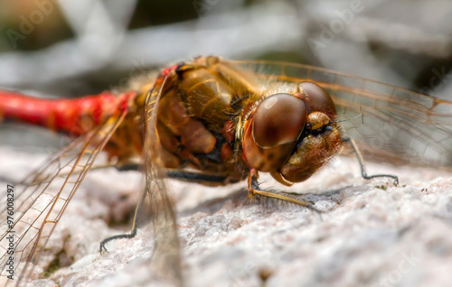
[[(24, 190), (14, 194), (10, 218), (2, 196), (0, 278), (6, 283), (31, 277), (101, 152), (112, 166), (138, 164), (143, 171), (137, 209), (149, 199), (158, 235), (151, 269), (174, 285), (184, 279), (167, 178), (213, 186), (246, 180), (251, 198), (315, 210), (303, 199), (261, 190), (259, 173), (290, 186), (308, 180), (334, 155), (354, 153), (364, 179), (389, 177), (397, 183), (396, 175), (368, 175), (364, 159), (452, 163), (452, 102), (332, 70), (198, 57), (131, 87), (74, 100), (0, 92), (3, 120), (77, 137), (21, 183)], [(136, 233), (134, 225), (131, 234), (103, 241), (101, 250), (112, 239)], [(20, 266), (15, 281), (8, 278), (12, 265)]]

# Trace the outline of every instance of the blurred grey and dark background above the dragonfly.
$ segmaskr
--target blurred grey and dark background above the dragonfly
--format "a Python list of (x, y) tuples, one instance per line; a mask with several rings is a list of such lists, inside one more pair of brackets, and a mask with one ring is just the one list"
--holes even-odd
[(80, 97), (198, 55), (305, 63), (452, 99), (452, 2), (0, 2), (0, 88)]

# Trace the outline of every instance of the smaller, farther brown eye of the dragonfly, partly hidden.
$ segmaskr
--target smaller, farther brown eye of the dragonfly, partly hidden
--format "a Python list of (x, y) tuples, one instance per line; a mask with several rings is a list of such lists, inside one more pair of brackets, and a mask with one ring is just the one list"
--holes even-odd
[(299, 84), (301, 96), (305, 100), (309, 112), (322, 112), (329, 116), (331, 120), (336, 119), (336, 109), (333, 99), (325, 89), (313, 82), (303, 82)]

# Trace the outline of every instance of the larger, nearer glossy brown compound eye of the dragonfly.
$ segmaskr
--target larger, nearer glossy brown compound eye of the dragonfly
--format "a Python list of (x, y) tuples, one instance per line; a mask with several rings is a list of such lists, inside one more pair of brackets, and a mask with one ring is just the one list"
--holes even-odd
[(275, 94), (264, 99), (253, 116), (253, 138), (262, 148), (296, 142), (307, 119), (303, 100), (289, 94)]

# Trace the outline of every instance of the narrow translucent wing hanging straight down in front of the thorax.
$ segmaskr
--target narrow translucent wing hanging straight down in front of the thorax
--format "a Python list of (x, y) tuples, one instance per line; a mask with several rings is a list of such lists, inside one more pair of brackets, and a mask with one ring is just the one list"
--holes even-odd
[(144, 156), (146, 161), (146, 191), (150, 199), (152, 224), (155, 230), (155, 252), (150, 266), (159, 280), (182, 286), (179, 238), (173, 199), (167, 192), (166, 172), (162, 167), (161, 145), (156, 133), (157, 111), (164, 90), (171, 85), (171, 74), (155, 87), (146, 99), (146, 137)]

